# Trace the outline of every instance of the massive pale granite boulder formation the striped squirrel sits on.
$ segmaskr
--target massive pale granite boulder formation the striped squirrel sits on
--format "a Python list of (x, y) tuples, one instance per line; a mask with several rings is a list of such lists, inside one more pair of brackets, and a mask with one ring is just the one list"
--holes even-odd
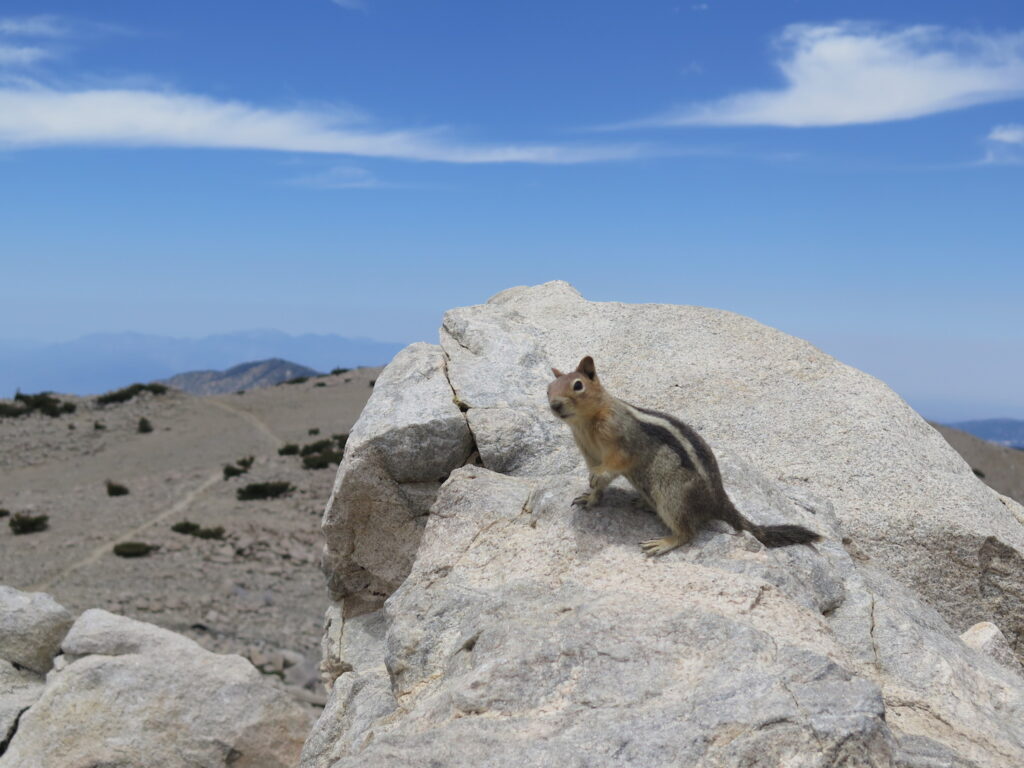
[[(1019, 651), (1024, 518), (884, 384), (737, 315), (562, 283), (450, 311), (440, 348), (414, 353), (434, 389), (412, 410), (380, 390), (365, 417), (400, 445), (392, 466), (346, 457), (325, 516), (346, 586), (305, 768), (1024, 765), (1016, 665), (958, 638), (990, 621)], [(766, 550), (712, 526), (648, 559), (662, 523), (625, 483), (572, 508), (586, 473), (545, 388), (584, 354), (696, 427), (744, 514), (824, 540)], [(443, 461), (389, 442), (423, 424), (469, 439)], [(420, 487), (425, 527), (389, 542), (411, 508), (394, 488), (426, 483), (396, 476), (407, 460), (449, 476)], [(372, 589), (337, 578), (353, 563)]]

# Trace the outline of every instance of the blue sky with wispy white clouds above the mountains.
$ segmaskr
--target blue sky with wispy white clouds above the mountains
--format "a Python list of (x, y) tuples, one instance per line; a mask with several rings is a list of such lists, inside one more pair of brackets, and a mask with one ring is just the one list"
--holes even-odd
[(6, 0), (0, 337), (436, 339), (562, 279), (1024, 417), (1024, 5)]

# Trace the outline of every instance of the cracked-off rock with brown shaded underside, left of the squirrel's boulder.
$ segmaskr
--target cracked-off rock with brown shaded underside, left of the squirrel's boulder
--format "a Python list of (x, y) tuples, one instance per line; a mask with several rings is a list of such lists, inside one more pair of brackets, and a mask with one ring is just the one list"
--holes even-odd
[(374, 609), (401, 584), (437, 488), (472, 443), (440, 348), (399, 352), (349, 434), (324, 513), (323, 566), (336, 600)]

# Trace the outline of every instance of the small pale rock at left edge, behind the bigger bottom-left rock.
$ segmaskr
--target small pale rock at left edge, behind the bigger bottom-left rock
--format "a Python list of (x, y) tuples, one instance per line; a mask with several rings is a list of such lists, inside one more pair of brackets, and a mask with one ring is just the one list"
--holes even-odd
[(0, 586), (0, 658), (45, 674), (73, 621), (49, 595)]

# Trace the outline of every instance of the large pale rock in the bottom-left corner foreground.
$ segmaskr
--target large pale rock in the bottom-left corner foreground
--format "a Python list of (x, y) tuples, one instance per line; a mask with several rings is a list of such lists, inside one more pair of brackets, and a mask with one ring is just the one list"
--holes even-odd
[(242, 656), (204, 650), (167, 630), (88, 610), (22, 715), (2, 768), (292, 766), (308, 709)]

